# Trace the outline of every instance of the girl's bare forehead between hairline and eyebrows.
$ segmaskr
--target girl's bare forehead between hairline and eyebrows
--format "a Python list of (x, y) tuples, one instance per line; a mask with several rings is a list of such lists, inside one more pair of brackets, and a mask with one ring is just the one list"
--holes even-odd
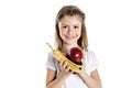
[(81, 18), (79, 15), (65, 15), (61, 19), (59, 23), (81, 24)]

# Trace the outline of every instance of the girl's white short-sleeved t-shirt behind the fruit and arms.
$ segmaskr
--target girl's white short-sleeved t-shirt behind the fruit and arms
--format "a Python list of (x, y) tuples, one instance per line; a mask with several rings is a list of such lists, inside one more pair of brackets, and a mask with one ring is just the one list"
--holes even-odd
[[(90, 73), (99, 66), (98, 59), (95, 56), (95, 53), (91, 51), (86, 52), (86, 73), (90, 75)], [(46, 62), (46, 66), (50, 69), (56, 70), (57, 75), (61, 73), (57, 61), (54, 58), (52, 53), (48, 53), (48, 58)], [(77, 74), (72, 74), (69, 77), (67, 77), (66, 81), (61, 88), (88, 88), (86, 84), (82, 81), (82, 79)]]

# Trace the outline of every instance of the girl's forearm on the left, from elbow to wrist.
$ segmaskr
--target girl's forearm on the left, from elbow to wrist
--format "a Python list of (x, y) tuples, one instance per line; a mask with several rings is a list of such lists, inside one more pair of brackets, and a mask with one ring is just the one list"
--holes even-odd
[(66, 78), (66, 76), (59, 75), (55, 80), (47, 84), (46, 88), (59, 88), (64, 84)]

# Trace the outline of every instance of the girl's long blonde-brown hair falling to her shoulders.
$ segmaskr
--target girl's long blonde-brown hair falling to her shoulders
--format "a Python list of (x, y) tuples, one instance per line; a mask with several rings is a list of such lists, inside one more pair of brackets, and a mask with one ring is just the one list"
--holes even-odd
[(55, 23), (55, 45), (57, 50), (61, 50), (63, 47), (63, 40), (59, 35), (59, 28), (58, 22), (65, 15), (78, 15), (81, 19), (81, 35), (79, 40), (77, 41), (78, 45), (82, 50), (88, 50), (88, 38), (87, 38), (87, 31), (86, 31), (86, 24), (85, 24), (85, 13), (77, 8), (76, 6), (64, 6), (57, 13), (56, 16), (56, 23)]

